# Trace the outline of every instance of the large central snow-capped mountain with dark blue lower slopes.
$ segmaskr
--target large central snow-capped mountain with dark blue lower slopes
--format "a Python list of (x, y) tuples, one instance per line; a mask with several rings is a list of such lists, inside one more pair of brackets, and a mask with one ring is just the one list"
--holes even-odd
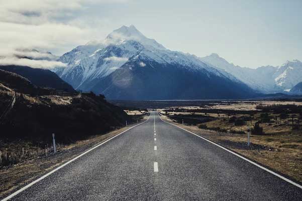
[(254, 94), (230, 73), (194, 55), (167, 50), (133, 25), (114, 30), (104, 41), (78, 46), (58, 61), (68, 67), (54, 72), (75, 89), (103, 93), (109, 99), (239, 98)]

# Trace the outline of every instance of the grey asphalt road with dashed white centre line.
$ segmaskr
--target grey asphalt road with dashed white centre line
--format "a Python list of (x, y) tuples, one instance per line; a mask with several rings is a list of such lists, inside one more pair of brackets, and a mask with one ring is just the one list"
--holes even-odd
[(152, 112), (13, 200), (277, 201), (302, 190)]

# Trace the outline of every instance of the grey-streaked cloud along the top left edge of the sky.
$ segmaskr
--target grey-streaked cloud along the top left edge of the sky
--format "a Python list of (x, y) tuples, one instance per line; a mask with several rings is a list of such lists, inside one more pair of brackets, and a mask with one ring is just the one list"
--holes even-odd
[(0, 1), (2, 22), (43, 24), (51, 20), (71, 18), (76, 12), (100, 4), (126, 3), (127, 0), (18, 0)]

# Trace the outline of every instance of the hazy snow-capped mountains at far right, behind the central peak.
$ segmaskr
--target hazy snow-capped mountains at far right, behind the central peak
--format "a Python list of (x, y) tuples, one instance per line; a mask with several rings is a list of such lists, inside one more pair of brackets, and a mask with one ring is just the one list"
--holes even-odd
[(235, 66), (217, 54), (200, 60), (224, 70), (251, 88), (263, 93), (289, 91), (302, 81), (302, 63), (298, 60), (287, 61), (279, 67), (262, 66), (257, 69)]

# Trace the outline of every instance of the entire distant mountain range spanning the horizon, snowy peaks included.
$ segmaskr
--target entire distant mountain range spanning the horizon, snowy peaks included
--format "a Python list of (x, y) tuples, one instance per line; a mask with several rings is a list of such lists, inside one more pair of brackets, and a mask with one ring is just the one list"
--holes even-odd
[(217, 54), (200, 58), (168, 50), (145, 37), (133, 25), (122, 26), (105, 40), (88, 42), (61, 57), (35, 49), (18, 50), (15, 57), (56, 60), (67, 67), (51, 69), (54, 73), (20, 66), (0, 69), (26, 77), (37, 86), (93, 91), (111, 100), (279, 96), (281, 93), (297, 94), (298, 86), (294, 86), (302, 82), (302, 63), (298, 60), (277, 67), (243, 68)]

